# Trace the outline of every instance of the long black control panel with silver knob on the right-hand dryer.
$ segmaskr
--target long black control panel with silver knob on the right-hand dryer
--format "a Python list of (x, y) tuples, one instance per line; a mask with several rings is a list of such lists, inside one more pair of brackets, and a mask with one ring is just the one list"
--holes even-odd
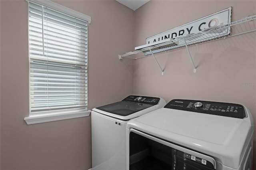
[(165, 108), (243, 119), (244, 107), (234, 103), (174, 99)]

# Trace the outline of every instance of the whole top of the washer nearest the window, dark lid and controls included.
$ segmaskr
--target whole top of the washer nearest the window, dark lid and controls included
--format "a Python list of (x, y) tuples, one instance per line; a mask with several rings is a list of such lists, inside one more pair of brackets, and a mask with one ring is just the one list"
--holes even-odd
[(122, 101), (92, 109), (114, 118), (129, 120), (145, 113), (164, 107), (166, 102), (159, 97), (130, 95)]

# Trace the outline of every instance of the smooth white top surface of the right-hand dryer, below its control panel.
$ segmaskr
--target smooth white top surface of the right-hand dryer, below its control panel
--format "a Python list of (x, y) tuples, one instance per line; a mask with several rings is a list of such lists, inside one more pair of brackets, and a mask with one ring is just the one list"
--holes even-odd
[[(176, 105), (182, 108), (181, 104)], [(225, 166), (238, 168), (254, 129), (252, 116), (247, 111), (245, 108), (246, 117), (240, 119), (161, 108), (129, 121), (127, 128), (210, 155)]]

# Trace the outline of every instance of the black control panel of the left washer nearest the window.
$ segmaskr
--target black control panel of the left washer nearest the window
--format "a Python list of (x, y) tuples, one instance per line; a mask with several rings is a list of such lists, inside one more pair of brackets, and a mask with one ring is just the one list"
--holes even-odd
[(160, 100), (160, 98), (158, 98), (158, 97), (131, 95), (131, 96), (126, 97), (122, 101), (132, 102), (132, 103), (149, 104), (149, 105), (157, 105), (159, 103), (159, 100)]

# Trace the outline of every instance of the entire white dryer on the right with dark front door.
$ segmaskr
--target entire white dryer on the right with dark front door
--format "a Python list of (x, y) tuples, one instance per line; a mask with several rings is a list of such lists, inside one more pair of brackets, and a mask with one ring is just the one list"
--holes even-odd
[(174, 99), (128, 122), (127, 170), (252, 170), (254, 122), (238, 104)]

